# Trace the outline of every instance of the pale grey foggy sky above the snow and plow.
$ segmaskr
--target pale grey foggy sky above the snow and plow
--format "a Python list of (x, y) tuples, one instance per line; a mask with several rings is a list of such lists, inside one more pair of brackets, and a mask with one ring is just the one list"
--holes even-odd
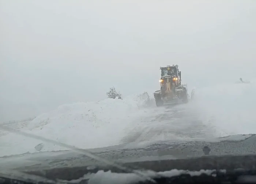
[(0, 1), (0, 121), (60, 104), (256, 76), (256, 1)]

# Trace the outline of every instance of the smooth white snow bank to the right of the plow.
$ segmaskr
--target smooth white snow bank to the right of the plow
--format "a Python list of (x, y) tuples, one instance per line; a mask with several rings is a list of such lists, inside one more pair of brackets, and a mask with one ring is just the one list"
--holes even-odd
[(256, 133), (256, 83), (222, 84), (197, 88), (189, 108), (209, 126), (217, 128), (217, 136)]

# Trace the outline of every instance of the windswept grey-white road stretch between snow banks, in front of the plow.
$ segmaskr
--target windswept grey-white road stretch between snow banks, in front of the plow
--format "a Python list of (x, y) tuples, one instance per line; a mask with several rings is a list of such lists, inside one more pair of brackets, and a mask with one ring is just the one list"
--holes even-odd
[(160, 107), (151, 117), (130, 127), (120, 143), (148, 141), (188, 141), (216, 137), (212, 127), (197, 120), (196, 114), (184, 106)]

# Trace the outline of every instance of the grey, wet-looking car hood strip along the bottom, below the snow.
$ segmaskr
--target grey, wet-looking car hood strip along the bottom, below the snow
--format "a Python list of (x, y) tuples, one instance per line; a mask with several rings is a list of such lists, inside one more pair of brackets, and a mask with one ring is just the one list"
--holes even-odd
[[(208, 140), (187, 142), (129, 143), (117, 146), (88, 149), (107, 160), (121, 163), (154, 160), (173, 160), (202, 157), (202, 148), (208, 146), (211, 156), (255, 154), (256, 134), (232, 135)], [(4, 169), (34, 170), (103, 164), (73, 150), (25, 153), (0, 157)]]

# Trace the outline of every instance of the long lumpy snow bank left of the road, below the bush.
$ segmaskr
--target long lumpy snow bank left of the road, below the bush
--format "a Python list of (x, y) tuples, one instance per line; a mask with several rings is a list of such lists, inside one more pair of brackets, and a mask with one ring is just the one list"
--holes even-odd
[[(120, 99), (64, 104), (37, 116), (21, 130), (80, 148), (117, 145), (129, 123), (147, 115), (147, 93)], [(0, 139), (0, 156), (66, 148), (9, 133)]]

